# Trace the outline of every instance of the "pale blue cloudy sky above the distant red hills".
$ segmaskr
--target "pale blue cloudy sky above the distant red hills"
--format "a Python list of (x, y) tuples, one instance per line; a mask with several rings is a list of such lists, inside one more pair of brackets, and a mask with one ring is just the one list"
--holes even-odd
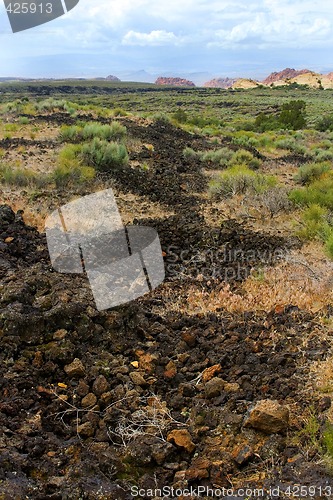
[(12, 33), (0, 0), (0, 76), (260, 79), (285, 67), (333, 71), (332, 49), (331, 1), (80, 0)]

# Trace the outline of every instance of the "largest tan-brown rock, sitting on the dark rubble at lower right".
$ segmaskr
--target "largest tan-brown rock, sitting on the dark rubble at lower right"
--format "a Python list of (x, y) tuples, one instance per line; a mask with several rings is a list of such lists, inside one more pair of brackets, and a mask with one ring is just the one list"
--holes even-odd
[(259, 401), (244, 423), (244, 427), (253, 427), (266, 434), (285, 431), (289, 423), (288, 408), (278, 401), (264, 399)]

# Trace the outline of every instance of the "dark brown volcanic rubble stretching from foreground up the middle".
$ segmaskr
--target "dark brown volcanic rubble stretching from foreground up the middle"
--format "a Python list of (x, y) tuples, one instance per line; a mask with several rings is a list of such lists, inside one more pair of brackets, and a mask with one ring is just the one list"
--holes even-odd
[[(175, 213), (153, 219), (142, 210), (133, 221), (155, 227), (165, 251), (166, 280), (151, 294), (97, 311), (86, 276), (55, 272), (45, 235), (0, 207), (0, 497), (121, 500), (132, 498), (133, 484), (330, 484), (315, 453), (290, 440), (310, 405), (323, 425), (330, 406), (308, 389), (310, 364), (331, 348), (318, 319), (293, 304), (190, 315), (167, 302), (170, 290), (186, 296), (198, 273), (212, 290), (223, 286), (223, 269), (241, 264), (228, 277), (237, 287), (263, 259), (274, 265), (299, 241), (236, 220), (207, 226), (206, 179), (181, 155), (187, 146), (202, 149), (205, 139), (171, 125), (126, 126), (153, 144), (137, 158), (154, 166), (119, 170), (112, 182)], [(191, 263), (208, 250), (227, 255), (215, 274), (207, 260)], [(244, 426), (260, 400), (290, 407), (287, 432)], [(188, 434), (177, 444), (170, 433), (180, 429)]]

